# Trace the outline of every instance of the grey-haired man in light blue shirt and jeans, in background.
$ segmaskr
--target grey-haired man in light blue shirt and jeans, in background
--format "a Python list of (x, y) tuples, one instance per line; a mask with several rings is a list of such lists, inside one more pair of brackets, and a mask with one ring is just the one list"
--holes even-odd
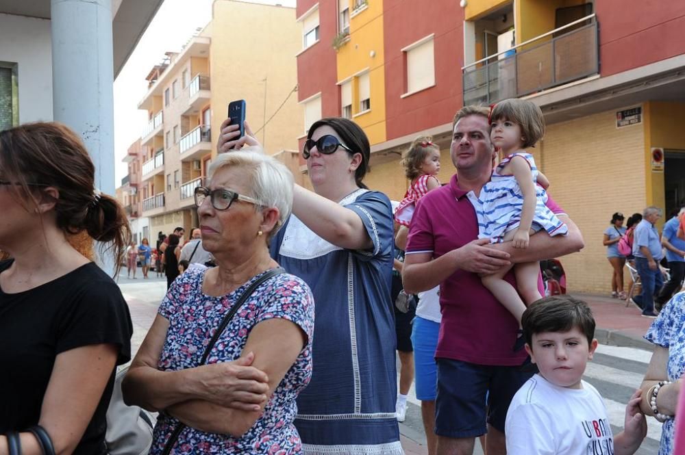
[(633, 237), (633, 255), (635, 268), (640, 275), (642, 294), (634, 296), (632, 302), (642, 310), (643, 316), (656, 317), (654, 313), (654, 296), (657, 296), (664, 284), (659, 262), (663, 257), (659, 231), (655, 223), (661, 218), (661, 209), (650, 206), (643, 211), (643, 219), (635, 228)]

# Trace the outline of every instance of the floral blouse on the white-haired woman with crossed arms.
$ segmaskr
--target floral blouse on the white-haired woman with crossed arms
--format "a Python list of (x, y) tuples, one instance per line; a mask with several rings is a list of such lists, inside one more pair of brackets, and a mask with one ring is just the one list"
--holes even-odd
[[(205, 272), (190, 269), (179, 276), (160, 305), (158, 313), (169, 320), (169, 330), (158, 362), (161, 371), (196, 367), (204, 346), (221, 324), (223, 315), (260, 276), (254, 276), (231, 294), (212, 297), (202, 292)], [(179, 434), (172, 454), (301, 454), (301, 441), (292, 421), (297, 414), (295, 398), (312, 376), (314, 334), (314, 299), (304, 281), (290, 274), (279, 274), (262, 283), (229, 322), (207, 363), (238, 359), (250, 330), (275, 317), (297, 324), (307, 334), (308, 340), (307, 346), (271, 395), (262, 417), (240, 438), (185, 428)], [(178, 424), (174, 417), (160, 413), (151, 455), (162, 453), (166, 440)]]

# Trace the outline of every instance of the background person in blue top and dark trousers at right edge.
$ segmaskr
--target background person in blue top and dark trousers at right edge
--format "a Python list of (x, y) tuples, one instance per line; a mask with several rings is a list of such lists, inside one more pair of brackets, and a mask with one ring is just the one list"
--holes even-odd
[(671, 278), (654, 301), (654, 309), (656, 311), (661, 311), (664, 303), (668, 302), (675, 292), (680, 291), (683, 278), (685, 278), (685, 240), (677, 237), (678, 226), (680, 226), (683, 218), (685, 218), (685, 207), (680, 209), (676, 216), (664, 224), (661, 244), (666, 248), (666, 259), (669, 261), (669, 274)]

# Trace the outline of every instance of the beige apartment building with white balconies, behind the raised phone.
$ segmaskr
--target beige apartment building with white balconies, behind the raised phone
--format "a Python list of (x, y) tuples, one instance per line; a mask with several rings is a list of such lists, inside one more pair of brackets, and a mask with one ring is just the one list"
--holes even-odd
[(216, 133), (230, 101), (245, 99), (247, 120), (266, 151), (301, 179), (292, 157), (302, 130), (293, 58), (299, 41), (293, 8), (217, 0), (212, 21), (182, 51), (153, 66), (138, 104), (148, 122), (137, 190), (153, 237), (197, 226), (194, 190), (216, 155)]

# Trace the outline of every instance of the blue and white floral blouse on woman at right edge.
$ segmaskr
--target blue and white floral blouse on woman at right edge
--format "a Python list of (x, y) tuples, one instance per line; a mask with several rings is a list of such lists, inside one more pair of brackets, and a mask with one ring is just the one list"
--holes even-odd
[[(685, 292), (675, 294), (664, 305), (659, 316), (647, 330), (645, 339), (669, 350), (669, 361), (666, 366), (667, 379), (675, 382), (682, 378), (685, 373)], [(683, 417), (685, 416), (677, 416), (681, 419)], [(674, 455), (674, 429), (675, 419), (668, 419), (664, 422), (659, 455)]]

